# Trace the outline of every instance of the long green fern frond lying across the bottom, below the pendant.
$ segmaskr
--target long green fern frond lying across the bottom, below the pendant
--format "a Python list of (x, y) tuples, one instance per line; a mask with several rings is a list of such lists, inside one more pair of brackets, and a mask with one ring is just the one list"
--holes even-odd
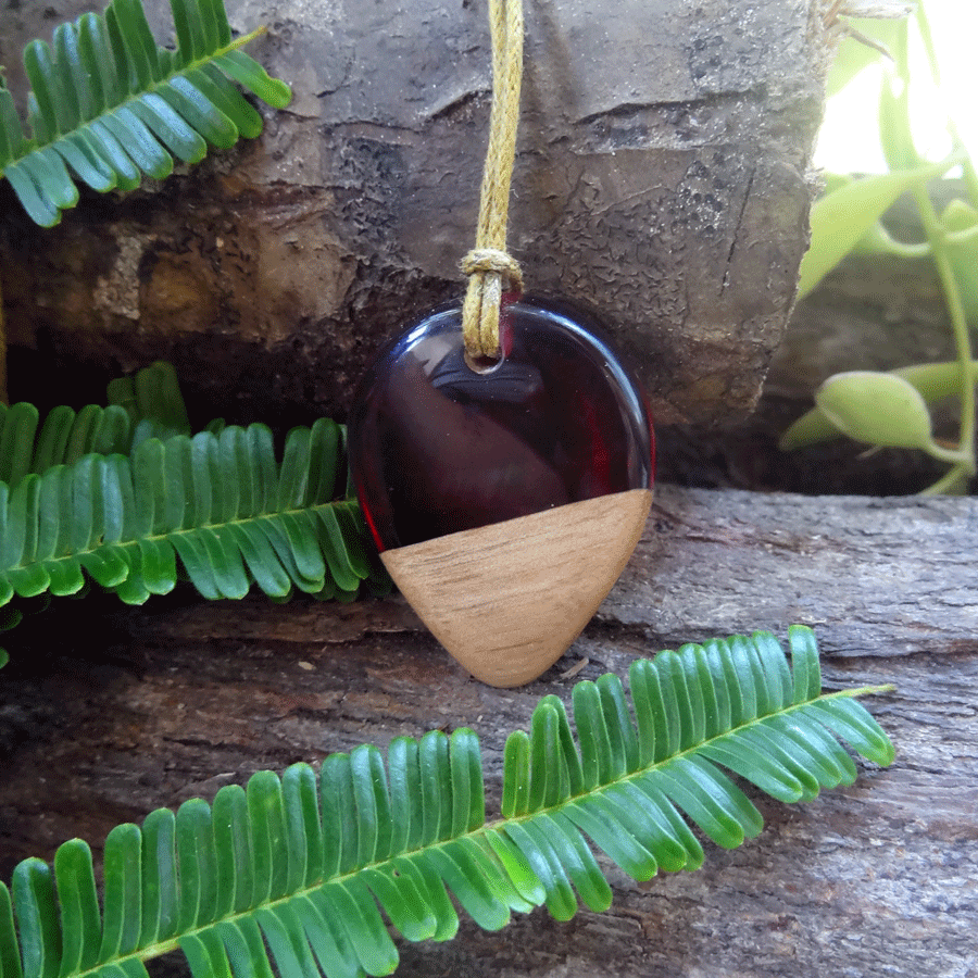
[[(390, 974), (408, 940), (448, 940), (450, 899), (479, 926), (546, 904), (566, 919), (612, 893), (603, 850), (636, 879), (692, 869), (703, 850), (761, 830), (732, 773), (774, 798), (850, 783), (837, 738), (876, 764), (886, 734), (854, 690), (823, 695), (812, 632), (789, 634), (789, 667), (767, 634), (685, 645), (574, 689), (575, 737), (547, 697), (505, 749), (502, 817), (487, 824), (471, 730), (399, 738), (262, 772), (213, 805), (159, 810), (105, 842), (100, 906), (88, 847), (58, 851), (0, 885), (0, 978), (146, 978), (143, 961), (183, 950), (195, 978)], [(726, 773), (725, 773), (726, 769)]]

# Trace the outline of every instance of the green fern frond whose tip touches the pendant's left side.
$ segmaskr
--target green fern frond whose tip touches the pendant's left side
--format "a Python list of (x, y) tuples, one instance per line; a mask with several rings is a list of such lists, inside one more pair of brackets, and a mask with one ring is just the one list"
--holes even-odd
[(359, 506), (336, 498), (341, 468), (339, 426), (324, 418), (289, 432), (280, 464), (267, 427), (230, 426), (0, 484), (0, 604), (73, 594), (83, 572), (142, 603), (174, 588), (177, 557), (209, 599), (252, 584), (351, 599), (375, 568)]

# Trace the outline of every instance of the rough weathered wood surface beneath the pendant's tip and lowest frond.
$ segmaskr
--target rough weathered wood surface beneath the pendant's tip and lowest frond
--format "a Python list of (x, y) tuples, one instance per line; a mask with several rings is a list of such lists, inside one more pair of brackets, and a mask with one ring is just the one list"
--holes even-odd
[[(599, 617), (529, 687), (468, 678), (398, 598), (113, 612), (59, 605), (13, 632), (0, 678), (0, 872), (73, 835), (258, 768), (468, 725), (497, 804), (505, 734), (575, 678), (624, 674), (689, 639), (813, 625), (828, 688), (867, 705), (886, 770), (810, 804), (758, 800), (766, 827), (694, 874), (635, 885), (555, 924), (402, 946), (402, 978), (975, 978), (978, 975), (978, 500), (663, 488)], [(57, 616), (57, 617), (55, 617)], [(48, 632), (37, 629), (48, 629)], [(32, 638), (32, 635), (34, 636)], [(18, 645), (21, 642), (21, 645)], [(568, 673), (575, 673), (572, 677)], [(176, 974), (177, 966), (168, 967)]]

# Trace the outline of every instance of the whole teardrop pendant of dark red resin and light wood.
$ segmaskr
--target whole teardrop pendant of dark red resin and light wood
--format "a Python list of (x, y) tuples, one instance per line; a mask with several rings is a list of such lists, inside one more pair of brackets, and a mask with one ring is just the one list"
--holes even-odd
[(504, 300), (469, 363), (461, 305), (378, 355), (350, 416), (360, 504), (394, 584), (477, 679), (529, 682), (628, 562), (652, 503), (644, 397), (588, 312)]

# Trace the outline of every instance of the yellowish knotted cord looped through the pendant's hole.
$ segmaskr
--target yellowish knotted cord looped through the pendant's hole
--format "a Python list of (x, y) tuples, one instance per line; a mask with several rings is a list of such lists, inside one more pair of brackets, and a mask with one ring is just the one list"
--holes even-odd
[(462, 334), (471, 358), (496, 360), (500, 355), (499, 310), (503, 291), (523, 290), (519, 265), (506, 253), (510, 181), (523, 82), (522, 0), (489, 0), (489, 22), (492, 36), (489, 149), (482, 172), (476, 247), (462, 260), (462, 271), (468, 276)]

